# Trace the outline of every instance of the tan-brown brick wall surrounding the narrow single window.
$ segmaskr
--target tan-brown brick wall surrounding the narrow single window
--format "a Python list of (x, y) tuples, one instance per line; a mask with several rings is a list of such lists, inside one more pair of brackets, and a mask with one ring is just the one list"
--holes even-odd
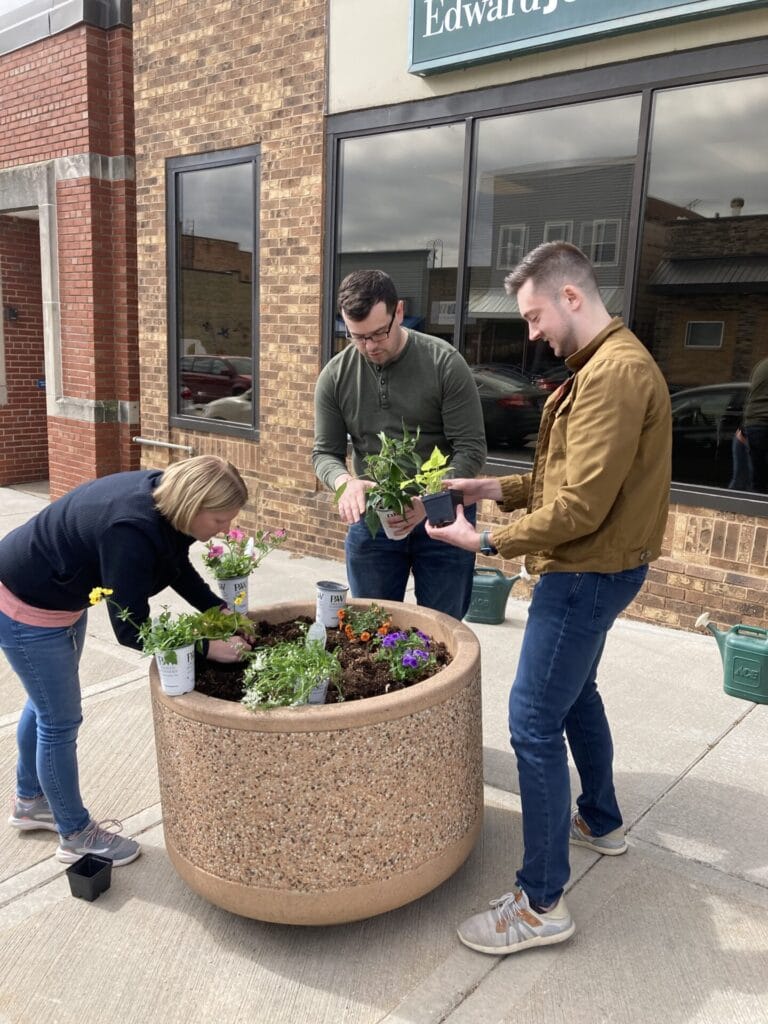
[[(252, 497), (244, 524), (282, 523), (294, 550), (316, 554), (329, 551), (326, 496), (316, 494), (309, 461), (321, 358), (326, 6), (133, 6), (142, 434), (231, 460)], [(257, 442), (169, 428), (165, 231), (168, 158), (254, 143), (261, 146)], [(148, 449), (144, 463), (170, 458), (178, 455)], [(343, 539), (340, 525), (334, 536)]]

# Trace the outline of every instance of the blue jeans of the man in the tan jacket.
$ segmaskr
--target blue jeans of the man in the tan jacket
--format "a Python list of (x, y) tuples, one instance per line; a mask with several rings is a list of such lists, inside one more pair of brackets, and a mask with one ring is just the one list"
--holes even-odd
[(563, 732), (582, 784), (579, 813), (595, 836), (622, 824), (613, 790), (613, 742), (597, 667), (608, 630), (648, 571), (548, 572), (534, 589), (509, 729), (522, 803), (523, 862), (517, 884), (540, 906), (570, 874), (570, 778)]

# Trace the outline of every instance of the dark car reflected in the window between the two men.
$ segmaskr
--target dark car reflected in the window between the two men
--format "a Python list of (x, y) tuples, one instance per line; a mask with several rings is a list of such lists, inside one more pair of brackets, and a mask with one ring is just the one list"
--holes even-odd
[(524, 378), (471, 367), (488, 444), (519, 444), (539, 432), (546, 395)]

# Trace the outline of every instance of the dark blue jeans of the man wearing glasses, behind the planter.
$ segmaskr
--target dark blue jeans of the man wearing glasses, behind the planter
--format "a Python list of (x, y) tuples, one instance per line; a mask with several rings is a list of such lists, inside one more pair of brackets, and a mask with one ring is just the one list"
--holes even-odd
[[(477, 506), (470, 505), (464, 514), (474, 523)], [(360, 519), (349, 527), (344, 551), (352, 597), (401, 601), (413, 571), (418, 604), (454, 618), (463, 618), (467, 613), (475, 556), (471, 551), (433, 541), (423, 522), (402, 541), (390, 541), (381, 528), (371, 537)]]

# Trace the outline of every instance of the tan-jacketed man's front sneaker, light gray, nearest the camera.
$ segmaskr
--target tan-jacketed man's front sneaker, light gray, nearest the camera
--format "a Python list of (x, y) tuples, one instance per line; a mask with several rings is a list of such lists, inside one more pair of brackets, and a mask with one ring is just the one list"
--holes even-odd
[(459, 926), (465, 946), (481, 953), (504, 956), (530, 946), (551, 946), (564, 942), (575, 925), (560, 897), (546, 913), (534, 910), (521, 889), (490, 900), (490, 909), (476, 913)]

